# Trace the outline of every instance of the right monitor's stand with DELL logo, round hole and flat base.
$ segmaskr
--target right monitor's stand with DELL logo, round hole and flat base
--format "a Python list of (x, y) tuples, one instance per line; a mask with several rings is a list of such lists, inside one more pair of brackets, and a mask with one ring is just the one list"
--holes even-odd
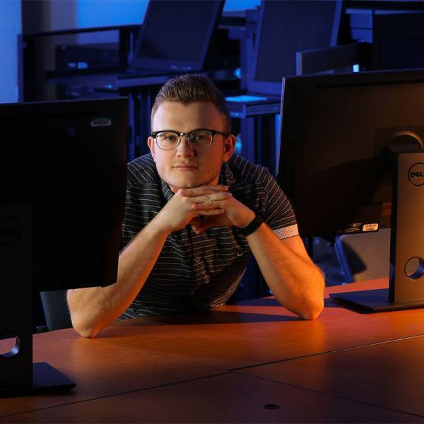
[(424, 307), (424, 152), (392, 151), (389, 288), (330, 297), (363, 312)]

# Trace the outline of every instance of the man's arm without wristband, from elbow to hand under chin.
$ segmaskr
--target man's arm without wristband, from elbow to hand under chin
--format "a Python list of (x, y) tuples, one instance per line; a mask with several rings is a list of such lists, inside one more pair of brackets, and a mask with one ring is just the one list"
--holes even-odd
[(172, 189), (175, 195), (153, 220), (131, 241), (119, 256), (117, 282), (107, 287), (69, 290), (68, 304), (73, 328), (81, 336), (95, 337), (125, 312), (139, 294), (170, 232), (184, 228), (196, 216), (192, 205), (199, 199), (215, 201), (216, 207), (204, 212), (220, 215), (220, 202), (231, 197), (228, 187), (197, 187), (196, 196), (184, 196), (181, 189)]

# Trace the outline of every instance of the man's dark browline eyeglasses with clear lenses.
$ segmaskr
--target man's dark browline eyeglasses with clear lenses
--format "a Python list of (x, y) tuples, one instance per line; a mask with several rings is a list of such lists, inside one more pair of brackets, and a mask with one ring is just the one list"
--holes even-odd
[(213, 141), (213, 136), (220, 134), (221, 136), (228, 137), (228, 134), (225, 134), (221, 131), (216, 131), (215, 129), (195, 129), (188, 133), (180, 133), (177, 131), (155, 131), (151, 133), (151, 137), (156, 140), (158, 148), (162, 150), (172, 150), (177, 148), (179, 143), (181, 143), (182, 136), (187, 136), (187, 141), (189, 141), (190, 146), (193, 148), (208, 148), (211, 146)]

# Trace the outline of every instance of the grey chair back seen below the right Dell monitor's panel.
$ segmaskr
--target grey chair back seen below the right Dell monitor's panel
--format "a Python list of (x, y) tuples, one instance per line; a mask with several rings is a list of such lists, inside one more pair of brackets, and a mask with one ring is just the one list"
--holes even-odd
[(389, 276), (390, 228), (341, 235), (335, 249), (346, 283)]

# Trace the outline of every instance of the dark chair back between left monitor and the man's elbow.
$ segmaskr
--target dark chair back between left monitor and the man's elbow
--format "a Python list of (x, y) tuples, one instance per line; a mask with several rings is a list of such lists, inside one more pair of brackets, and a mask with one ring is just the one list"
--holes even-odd
[(66, 290), (43, 291), (40, 292), (40, 298), (49, 331), (68, 329), (72, 326)]

